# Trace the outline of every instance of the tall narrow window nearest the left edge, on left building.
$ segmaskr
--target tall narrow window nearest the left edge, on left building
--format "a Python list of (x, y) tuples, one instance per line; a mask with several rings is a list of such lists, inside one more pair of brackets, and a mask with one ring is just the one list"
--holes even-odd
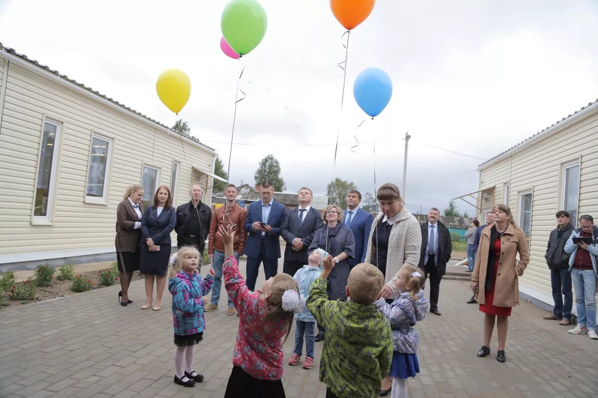
[(50, 219), (53, 187), (56, 180), (56, 147), (59, 132), (59, 124), (49, 120), (44, 122), (33, 204), (33, 217), (38, 220)]

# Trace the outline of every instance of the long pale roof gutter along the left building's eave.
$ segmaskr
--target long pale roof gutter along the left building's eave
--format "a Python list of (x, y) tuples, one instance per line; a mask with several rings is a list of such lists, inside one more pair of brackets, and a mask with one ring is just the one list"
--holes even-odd
[[(126, 116), (129, 116), (130, 118), (136, 119), (137, 121), (142, 122), (143, 124), (150, 125), (153, 128), (157, 128), (161, 132), (165, 132), (166, 134), (170, 134), (172, 132), (170, 129), (164, 127), (163, 125), (161, 125), (157, 122), (152, 122), (149, 119), (144, 118), (143, 116), (137, 115), (135, 112), (127, 109), (124, 106), (119, 106), (119, 105), (113, 103), (112, 101), (108, 100), (108, 98), (104, 98), (99, 94), (94, 94), (93, 92), (86, 90), (84, 88), (81, 88), (72, 82), (65, 81), (65, 79), (60, 78), (60, 76), (57, 76), (54, 73), (48, 72), (47, 70), (45, 70), (41, 67), (35, 66), (34, 64), (31, 64), (31, 63), (23, 60), (22, 58), (17, 57), (16, 55), (7, 53), (7, 51), (5, 51), (5, 49), (2, 47), (0, 47), (0, 57), (4, 58), (5, 60), (8, 60), (12, 63), (17, 64), (17, 65), (29, 70), (29, 72), (32, 72), (38, 76), (41, 76), (42, 78), (53, 81), (54, 83), (57, 83), (63, 87), (68, 88), (69, 90), (73, 90), (73, 91), (77, 92), (78, 94), (84, 95), (84, 97), (87, 97), (90, 100), (93, 100), (93, 101), (96, 101), (97, 103), (105, 105), (113, 110), (116, 110), (119, 113), (123, 113), (123, 115), (126, 115)], [(174, 134), (178, 134), (178, 133), (174, 132)], [(196, 141), (190, 140), (189, 138), (185, 137), (184, 135), (181, 135), (181, 137), (182, 137), (182, 140), (186, 141), (188, 144), (196, 146), (199, 149), (202, 149), (205, 152), (210, 153), (210, 155), (213, 155), (213, 156), (216, 155), (215, 150), (213, 150), (209, 147), (206, 147), (205, 145), (202, 145), (200, 143), (197, 143)]]

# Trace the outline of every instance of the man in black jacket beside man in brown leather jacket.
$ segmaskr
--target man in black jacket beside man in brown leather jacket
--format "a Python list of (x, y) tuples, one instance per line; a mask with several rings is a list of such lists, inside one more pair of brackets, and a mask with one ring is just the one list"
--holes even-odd
[(202, 203), (202, 187), (191, 187), (191, 200), (176, 208), (176, 244), (181, 246), (195, 246), (200, 252), (206, 248), (206, 239), (212, 222), (212, 211)]

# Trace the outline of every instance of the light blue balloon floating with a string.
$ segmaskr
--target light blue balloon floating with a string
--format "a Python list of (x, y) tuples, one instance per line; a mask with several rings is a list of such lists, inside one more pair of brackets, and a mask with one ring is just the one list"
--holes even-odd
[(392, 81), (388, 73), (377, 67), (363, 70), (353, 84), (355, 101), (365, 113), (380, 115), (392, 97)]

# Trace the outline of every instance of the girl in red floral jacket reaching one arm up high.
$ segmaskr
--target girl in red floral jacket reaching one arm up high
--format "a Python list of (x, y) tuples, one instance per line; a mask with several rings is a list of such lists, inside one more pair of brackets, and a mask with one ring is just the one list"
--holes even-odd
[[(224, 286), (239, 313), (239, 334), (233, 353), (233, 372), (225, 398), (285, 397), (282, 387), (283, 337), (291, 331), (294, 313), (304, 307), (297, 282), (287, 274), (266, 280), (261, 289), (249, 290), (233, 256), (233, 236), (224, 226)], [(286, 340), (286, 338), (285, 338)]]

